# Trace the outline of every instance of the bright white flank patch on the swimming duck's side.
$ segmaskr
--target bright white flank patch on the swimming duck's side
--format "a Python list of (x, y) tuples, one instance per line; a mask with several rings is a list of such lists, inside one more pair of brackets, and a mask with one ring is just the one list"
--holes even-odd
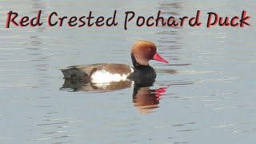
[[(133, 70), (132, 70), (133, 71)], [(130, 73), (129, 73), (130, 74)], [(110, 83), (126, 81), (129, 74), (110, 74), (106, 70), (97, 70), (90, 76), (93, 83)]]

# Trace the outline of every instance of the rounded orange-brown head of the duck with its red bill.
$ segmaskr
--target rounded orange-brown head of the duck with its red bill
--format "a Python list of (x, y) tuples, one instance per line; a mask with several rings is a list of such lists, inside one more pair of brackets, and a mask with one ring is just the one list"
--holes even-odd
[(132, 47), (131, 54), (138, 64), (144, 66), (149, 65), (150, 60), (169, 63), (157, 53), (157, 47), (150, 41), (136, 42)]

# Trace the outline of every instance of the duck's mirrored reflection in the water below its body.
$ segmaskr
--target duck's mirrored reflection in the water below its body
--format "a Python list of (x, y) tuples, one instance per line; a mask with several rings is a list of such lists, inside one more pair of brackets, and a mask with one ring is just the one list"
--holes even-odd
[(84, 91), (84, 92), (107, 92), (114, 90), (122, 90), (134, 86), (134, 92), (132, 94), (134, 106), (140, 110), (141, 114), (149, 114), (154, 109), (158, 108), (158, 104), (162, 96), (166, 93), (166, 87), (158, 89), (150, 89), (153, 86), (153, 82), (138, 81), (123, 81), (123, 82), (110, 82), (107, 84), (94, 84), (92, 82), (72, 81), (71, 79), (65, 79), (65, 82), (61, 90)]

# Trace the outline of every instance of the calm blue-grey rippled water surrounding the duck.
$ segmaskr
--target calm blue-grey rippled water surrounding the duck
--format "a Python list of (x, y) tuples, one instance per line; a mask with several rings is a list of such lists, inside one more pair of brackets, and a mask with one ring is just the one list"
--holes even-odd
[[(0, 143), (254, 143), (256, 133), (255, 1), (2, 1), (0, 9)], [(43, 26), (6, 30), (6, 14), (36, 16)], [(47, 16), (112, 16), (118, 26), (49, 27)], [(202, 26), (123, 29), (136, 16), (194, 17)], [(206, 28), (208, 12), (251, 26)], [(133, 21), (134, 22), (134, 21)], [(134, 87), (91, 92), (60, 90), (66, 66), (98, 62), (131, 65), (130, 47), (150, 40), (170, 61), (157, 71), (154, 103), (133, 99)], [(166, 92), (165, 92), (166, 91)]]

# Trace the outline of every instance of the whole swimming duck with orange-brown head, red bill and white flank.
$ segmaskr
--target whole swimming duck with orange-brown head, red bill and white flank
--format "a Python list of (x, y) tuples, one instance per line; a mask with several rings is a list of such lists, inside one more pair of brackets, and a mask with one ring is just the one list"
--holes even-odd
[(116, 63), (98, 63), (84, 66), (70, 66), (62, 70), (66, 79), (72, 81), (109, 83), (121, 81), (154, 82), (156, 78), (153, 67), (149, 66), (150, 60), (166, 62), (158, 53), (153, 42), (138, 41), (131, 49), (131, 59), (134, 67)]

